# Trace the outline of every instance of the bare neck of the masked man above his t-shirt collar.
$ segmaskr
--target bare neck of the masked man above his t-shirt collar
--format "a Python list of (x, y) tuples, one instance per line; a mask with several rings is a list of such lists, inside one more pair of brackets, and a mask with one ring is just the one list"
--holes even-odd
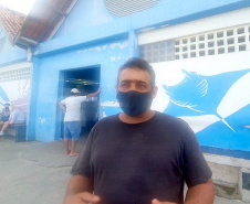
[(155, 111), (148, 109), (139, 116), (132, 117), (132, 116), (128, 116), (128, 115), (122, 112), (122, 114), (119, 114), (118, 117), (125, 124), (140, 124), (140, 122), (152, 119), (154, 116), (155, 116)]

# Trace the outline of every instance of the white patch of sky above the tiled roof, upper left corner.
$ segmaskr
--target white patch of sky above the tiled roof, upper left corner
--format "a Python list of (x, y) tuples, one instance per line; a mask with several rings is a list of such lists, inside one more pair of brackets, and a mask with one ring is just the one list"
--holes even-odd
[(28, 14), (35, 0), (0, 0), (0, 4)]

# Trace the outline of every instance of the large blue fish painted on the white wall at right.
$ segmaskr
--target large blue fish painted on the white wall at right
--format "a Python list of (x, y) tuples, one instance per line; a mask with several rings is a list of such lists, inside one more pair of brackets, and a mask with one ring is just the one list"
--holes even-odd
[[(185, 74), (184, 80), (175, 86), (163, 85), (170, 101), (176, 106), (188, 108), (202, 115), (215, 115), (235, 131), (225, 118), (233, 114), (233, 109), (237, 111), (250, 104), (250, 95), (239, 96), (246, 87), (250, 87), (250, 72), (238, 71), (233, 72), (233, 74), (200, 76), (194, 72), (181, 71)], [(221, 78), (223, 78), (223, 83), (221, 83)], [(241, 92), (233, 90), (237, 89), (236, 87)], [(233, 108), (232, 104), (238, 105), (239, 101), (236, 103), (236, 100), (239, 98), (240, 101), (244, 103), (239, 105), (238, 108)], [(242, 98), (246, 99), (242, 100)], [(229, 104), (231, 104), (230, 107)], [(168, 107), (165, 112), (171, 112), (171, 107)]]

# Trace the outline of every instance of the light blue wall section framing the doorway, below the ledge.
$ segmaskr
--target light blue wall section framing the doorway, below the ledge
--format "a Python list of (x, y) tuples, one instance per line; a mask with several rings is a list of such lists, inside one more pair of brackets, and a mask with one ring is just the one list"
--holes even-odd
[(62, 99), (58, 98), (61, 71), (98, 65), (101, 67), (101, 98), (102, 100), (115, 99), (117, 67), (125, 62), (127, 55), (128, 42), (126, 39), (121, 39), (37, 58), (34, 66), (38, 66), (39, 76), (35, 93), (39, 94), (34, 94), (37, 97), (35, 107), (33, 107), (35, 128), (30, 130), (35, 135), (35, 140), (46, 142), (61, 137), (55, 135), (55, 125), (59, 119), (61, 120), (56, 118), (56, 112), (61, 111), (58, 105)]

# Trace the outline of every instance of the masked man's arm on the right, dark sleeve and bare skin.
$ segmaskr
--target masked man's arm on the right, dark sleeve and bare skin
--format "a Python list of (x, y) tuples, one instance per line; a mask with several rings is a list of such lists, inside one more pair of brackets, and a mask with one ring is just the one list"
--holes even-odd
[(190, 127), (184, 142), (184, 179), (188, 185), (185, 204), (212, 204), (215, 198), (212, 172)]

